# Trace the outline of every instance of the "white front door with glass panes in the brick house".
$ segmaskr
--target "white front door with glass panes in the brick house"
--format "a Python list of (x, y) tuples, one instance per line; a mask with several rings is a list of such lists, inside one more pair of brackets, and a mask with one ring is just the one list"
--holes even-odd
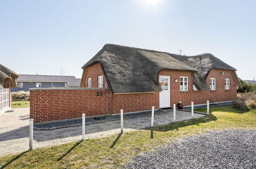
[(160, 108), (170, 108), (170, 76), (159, 76), (162, 92), (159, 94)]

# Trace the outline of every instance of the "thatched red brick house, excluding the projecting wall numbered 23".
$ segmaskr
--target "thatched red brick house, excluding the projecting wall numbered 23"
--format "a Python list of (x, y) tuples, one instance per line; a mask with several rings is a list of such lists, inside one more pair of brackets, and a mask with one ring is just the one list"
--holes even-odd
[(159, 109), (179, 101), (231, 101), (241, 88), (236, 69), (209, 53), (181, 56), (107, 44), (82, 69), (82, 88), (111, 90), (112, 113), (118, 113), (115, 106), (126, 112), (149, 110), (152, 102)]

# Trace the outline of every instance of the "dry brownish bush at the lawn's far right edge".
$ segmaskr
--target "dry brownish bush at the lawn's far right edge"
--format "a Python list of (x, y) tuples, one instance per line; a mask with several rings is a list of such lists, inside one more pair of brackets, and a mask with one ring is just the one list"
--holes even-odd
[(246, 110), (248, 107), (256, 109), (256, 93), (238, 93), (238, 98), (233, 104), (236, 108), (241, 110)]

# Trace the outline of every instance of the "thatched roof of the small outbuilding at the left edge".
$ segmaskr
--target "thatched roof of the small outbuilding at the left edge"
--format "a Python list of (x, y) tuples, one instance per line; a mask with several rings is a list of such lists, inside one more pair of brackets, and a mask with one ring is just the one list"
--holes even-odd
[(0, 89), (17, 88), (17, 77), (15, 72), (0, 64)]

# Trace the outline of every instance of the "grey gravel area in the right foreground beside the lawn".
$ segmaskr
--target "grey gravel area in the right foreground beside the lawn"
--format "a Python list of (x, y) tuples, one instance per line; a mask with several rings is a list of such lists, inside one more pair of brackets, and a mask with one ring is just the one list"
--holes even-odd
[(256, 168), (256, 131), (225, 130), (181, 138), (139, 154), (127, 168)]

